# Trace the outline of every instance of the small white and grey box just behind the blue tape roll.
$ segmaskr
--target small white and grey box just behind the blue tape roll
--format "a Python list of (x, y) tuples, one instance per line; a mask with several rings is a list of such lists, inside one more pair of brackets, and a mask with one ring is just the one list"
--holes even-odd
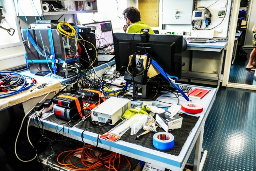
[(183, 118), (179, 115), (174, 115), (173, 119), (165, 113), (156, 115), (156, 124), (159, 125), (165, 132), (168, 132), (170, 129), (178, 129), (182, 126)]

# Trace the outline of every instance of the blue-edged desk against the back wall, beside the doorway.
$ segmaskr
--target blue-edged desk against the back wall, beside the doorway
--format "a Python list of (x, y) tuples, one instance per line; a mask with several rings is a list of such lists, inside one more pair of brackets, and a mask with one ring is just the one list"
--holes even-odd
[(222, 81), (221, 72), (224, 51), (228, 42), (189, 43), (187, 40), (187, 43), (187, 50), (184, 51), (182, 55), (182, 60), (185, 62), (185, 66), (182, 67), (182, 78), (201, 80), (198, 81), (198, 83), (205, 84), (208, 83), (207, 81), (211, 81), (208, 84), (216, 82), (218, 90), (220, 82)]

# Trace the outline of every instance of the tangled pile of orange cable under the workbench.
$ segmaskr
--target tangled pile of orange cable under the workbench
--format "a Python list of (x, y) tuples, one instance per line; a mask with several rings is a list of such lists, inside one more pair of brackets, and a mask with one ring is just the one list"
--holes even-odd
[[(129, 170), (131, 170), (131, 163), (126, 156), (103, 149), (99, 151), (98, 149), (99, 148), (96, 149), (93, 145), (87, 145), (87, 147), (77, 148), (76, 150), (64, 151), (58, 155), (57, 162), (68, 169), (78, 171), (89, 171), (102, 166), (107, 167), (108, 170), (113, 169), (117, 171), (123, 168), (127, 163), (129, 164)], [(64, 153), (67, 154), (64, 155)], [(76, 155), (81, 155), (79, 161), (76, 160)], [(62, 160), (62, 162), (60, 160)], [(78, 167), (78, 164), (81, 163), (85, 166), (84, 168)]]

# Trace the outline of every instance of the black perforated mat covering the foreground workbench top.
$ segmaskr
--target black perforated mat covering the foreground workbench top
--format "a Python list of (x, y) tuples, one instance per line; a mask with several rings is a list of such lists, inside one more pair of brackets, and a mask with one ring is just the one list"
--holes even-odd
[[(186, 140), (190, 134), (190, 131), (194, 128), (194, 126), (199, 118), (199, 117), (194, 117), (194, 116), (189, 116), (189, 115), (187, 115), (187, 116), (182, 115), (182, 117), (183, 117), (182, 127), (170, 132), (171, 134), (173, 134), (173, 136), (175, 138), (174, 147), (170, 150), (164, 151), (164, 153), (178, 156), (184, 143), (186, 142)], [(63, 126), (67, 126), (67, 127), (75, 126), (76, 128), (79, 128), (81, 130), (85, 130), (86, 128), (93, 127), (93, 124), (89, 120), (86, 120), (86, 121), (75, 120), (72, 122), (67, 122), (67, 121), (56, 118), (54, 115), (50, 115), (45, 120), (53, 122), (53, 123), (57, 123), (57, 124), (60, 124)], [(121, 120), (119, 122), (121, 122)], [(98, 134), (99, 130), (101, 129), (100, 134), (104, 134), (105, 132), (109, 131), (112, 128), (114, 128), (114, 126), (108, 126), (108, 127), (102, 128), (102, 129), (101, 129), (101, 127), (96, 127), (96, 128), (88, 129), (87, 131)], [(139, 137), (138, 139), (135, 138), (136, 136), (140, 135), (144, 131), (145, 130), (141, 129), (141, 130), (139, 130), (139, 132), (136, 135), (130, 135), (131, 130), (129, 129), (127, 132), (125, 132), (121, 136), (121, 139), (119, 141), (126, 141), (129, 143), (133, 143), (133, 144), (137, 144), (137, 145), (149, 148), (149, 149), (162, 151), (162, 150), (156, 149), (153, 146), (153, 136), (156, 132), (149, 132), (148, 134), (143, 135), (143, 136)], [(159, 128), (159, 127), (157, 128), (157, 132), (162, 132), (162, 131), (164, 131), (162, 128)], [(86, 135), (84, 135), (84, 138), (86, 138), (85, 136)]]

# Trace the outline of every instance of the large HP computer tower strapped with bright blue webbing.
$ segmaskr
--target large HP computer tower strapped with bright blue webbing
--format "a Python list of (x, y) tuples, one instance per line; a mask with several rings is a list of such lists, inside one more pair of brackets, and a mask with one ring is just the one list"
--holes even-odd
[[(60, 34), (57, 29), (22, 29), (22, 37), (31, 73), (55, 73), (66, 78), (75, 74), (70, 72), (70, 67), (74, 66), (78, 57), (76, 35), (69, 38)], [(51, 59), (56, 62), (51, 62)]]

